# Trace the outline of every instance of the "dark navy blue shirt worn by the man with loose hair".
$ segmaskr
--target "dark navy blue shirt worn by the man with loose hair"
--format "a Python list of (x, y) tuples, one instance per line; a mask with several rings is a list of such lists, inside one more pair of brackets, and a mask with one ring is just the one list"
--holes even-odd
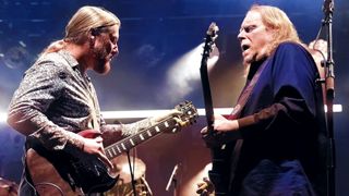
[[(249, 81), (261, 63), (251, 65)], [(311, 54), (298, 44), (284, 42), (268, 58), (238, 119), (243, 146), (236, 170), (234, 195), (244, 181), (250, 185), (270, 181), (265, 176), (251, 181), (251, 173), (267, 166), (292, 166), (304, 171), (316, 192), (323, 192), (320, 189), (324, 184), (317, 180), (320, 175), (325, 177), (325, 159), (321, 155), (325, 114), (317, 77)]]

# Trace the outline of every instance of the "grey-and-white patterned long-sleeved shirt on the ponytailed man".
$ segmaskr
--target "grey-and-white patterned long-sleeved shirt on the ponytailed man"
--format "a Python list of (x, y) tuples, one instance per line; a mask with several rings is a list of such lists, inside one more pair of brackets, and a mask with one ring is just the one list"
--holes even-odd
[[(83, 130), (128, 136), (149, 126), (145, 119), (125, 125), (106, 125), (91, 79), (64, 50), (41, 56), (29, 68), (9, 107), (8, 122), (47, 149), (83, 147)], [(112, 134), (108, 135), (112, 136)]]

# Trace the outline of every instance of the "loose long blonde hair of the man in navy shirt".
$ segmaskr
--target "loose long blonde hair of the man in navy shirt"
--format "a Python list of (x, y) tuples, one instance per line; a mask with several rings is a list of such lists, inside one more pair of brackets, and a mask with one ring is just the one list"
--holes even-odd
[(270, 5), (254, 4), (251, 7), (250, 11), (258, 12), (264, 25), (275, 32), (273, 42), (268, 49), (268, 54), (284, 41), (301, 44), (294, 25), (282, 10)]

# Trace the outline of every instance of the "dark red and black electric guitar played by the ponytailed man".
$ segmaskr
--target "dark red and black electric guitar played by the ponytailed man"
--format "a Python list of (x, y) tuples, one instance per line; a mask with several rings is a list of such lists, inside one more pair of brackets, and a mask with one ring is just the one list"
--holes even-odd
[[(180, 125), (174, 118), (185, 123), (193, 123), (197, 118), (197, 111), (190, 101), (176, 107), (181, 114), (168, 117), (159, 123), (140, 131), (105, 148), (109, 159), (129, 151), (163, 132), (177, 132)], [(83, 131), (84, 137), (96, 137), (99, 133)], [(33, 184), (39, 195), (86, 195), (103, 193), (118, 181), (118, 175), (109, 172), (108, 168), (94, 155), (83, 151), (65, 152), (49, 151), (39, 144), (31, 144), (26, 152), (26, 167), (29, 171)]]

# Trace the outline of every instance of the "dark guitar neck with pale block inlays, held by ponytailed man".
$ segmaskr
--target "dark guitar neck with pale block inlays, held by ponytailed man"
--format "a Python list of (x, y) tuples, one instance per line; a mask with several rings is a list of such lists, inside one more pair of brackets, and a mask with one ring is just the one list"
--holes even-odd
[(177, 121), (172, 118), (168, 118), (156, 125), (153, 125), (148, 128), (142, 130), (139, 133), (123, 138), (122, 140), (112, 144), (105, 148), (106, 155), (109, 159), (120, 156), (123, 152), (129, 151), (135, 146), (154, 138), (164, 131), (177, 132)]

